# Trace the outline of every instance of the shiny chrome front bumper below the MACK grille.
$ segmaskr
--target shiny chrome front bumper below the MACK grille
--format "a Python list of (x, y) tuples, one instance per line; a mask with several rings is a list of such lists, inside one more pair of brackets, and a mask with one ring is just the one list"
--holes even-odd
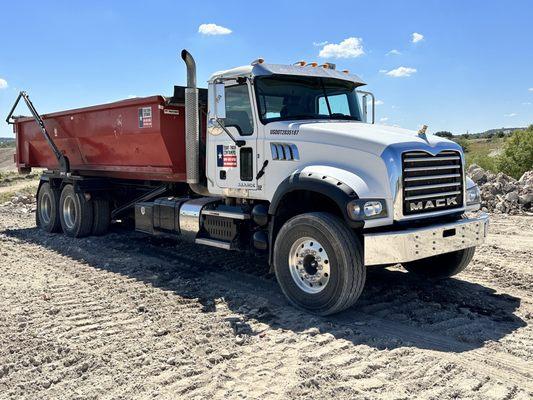
[(364, 235), (365, 265), (397, 264), (479, 246), (487, 237), (488, 214), (423, 228)]

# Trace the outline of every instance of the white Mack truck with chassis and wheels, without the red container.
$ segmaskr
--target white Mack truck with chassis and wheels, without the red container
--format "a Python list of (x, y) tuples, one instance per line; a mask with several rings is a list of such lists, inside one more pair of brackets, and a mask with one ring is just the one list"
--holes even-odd
[[(192, 56), (184, 50), (182, 58), (187, 87), (165, 101), (184, 107), (187, 183), (161, 180), (148, 190), (127, 177), (95, 180), (58, 158), (62, 169), (44, 174), (38, 194), (42, 228), (100, 234), (110, 219), (131, 215), (142, 232), (267, 252), (290, 302), (319, 315), (353, 305), (367, 267), (400, 263), (447, 278), (485, 240), (488, 216), (466, 216), (479, 209), (480, 192), (461, 147), (374, 124), (374, 97), (359, 90), (358, 76), (332, 64), (258, 59), (214, 73), (206, 91), (196, 86)], [(139, 115), (151, 126), (155, 116)], [(125, 196), (127, 184), (136, 196)]]

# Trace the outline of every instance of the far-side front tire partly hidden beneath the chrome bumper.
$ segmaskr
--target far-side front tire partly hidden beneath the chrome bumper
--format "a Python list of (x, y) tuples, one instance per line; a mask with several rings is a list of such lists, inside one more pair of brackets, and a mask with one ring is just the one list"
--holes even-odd
[(463, 271), (472, 261), (475, 251), (475, 247), (470, 247), (452, 253), (403, 263), (402, 266), (407, 271), (423, 278), (445, 279)]

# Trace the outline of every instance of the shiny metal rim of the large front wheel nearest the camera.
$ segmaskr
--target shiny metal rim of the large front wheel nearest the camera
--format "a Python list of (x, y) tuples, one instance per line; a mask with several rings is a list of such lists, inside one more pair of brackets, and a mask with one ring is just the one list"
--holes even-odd
[(330, 279), (330, 264), (326, 249), (312, 237), (296, 240), (289, 251), (291, 277), (305, 293), (320, 293)]

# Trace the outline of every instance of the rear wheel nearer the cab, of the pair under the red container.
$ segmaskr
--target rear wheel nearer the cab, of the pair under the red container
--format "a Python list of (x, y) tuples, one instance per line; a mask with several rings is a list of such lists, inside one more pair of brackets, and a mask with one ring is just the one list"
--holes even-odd
[(93, 203), (82, 193), (77, 193), (72, 185), (66, 185), (59, 200), (61, 227), (72, 237), (84, 237), (93, 227)]

